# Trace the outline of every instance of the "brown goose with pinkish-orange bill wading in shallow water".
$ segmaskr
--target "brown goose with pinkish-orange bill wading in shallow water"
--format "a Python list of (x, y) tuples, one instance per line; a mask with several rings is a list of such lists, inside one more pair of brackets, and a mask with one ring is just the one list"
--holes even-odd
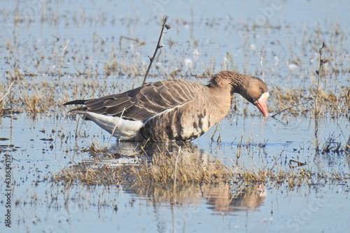
[(220, 71), (208, 85), (192, 80), (172, 79), (148, 83), (121, 94), (98, 99), (77, 99), (84, 104), (71, 110), (92, 120), (120, 141), (191, 141), (225, 118), (233, 94), (268, 116), (266, 84), (252, 76)]

